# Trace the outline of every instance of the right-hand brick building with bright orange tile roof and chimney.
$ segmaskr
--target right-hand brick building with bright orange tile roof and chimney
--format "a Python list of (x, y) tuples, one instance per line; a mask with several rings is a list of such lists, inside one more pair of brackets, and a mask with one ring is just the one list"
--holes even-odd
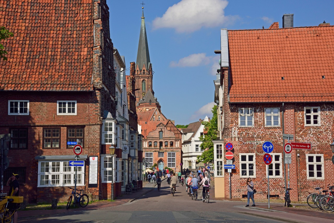
[[(287, 19), (286, 17), (289, 17)], [(274, 145), (269, 165), (270, 196), (284, 198), (288, 165), (284, 164), (283, 133), (296, 142), (312, 143), (311, 150), (293, 149), (290, 191), (294, 201), (305, 200), (315, 187), (326, 188), (334, 177), (330, 144), (334, 138), (334, 26), (321, 23), (293, 27), (283, 16), (269, 29), (221, 30), (221, 70), (215, 84), (220, 140), (214, 142), (215, 188), (218, 197), (246, 196), (251, 177), (267, 198), (267, 165), (262, 144)], [(229, 173), (225, 144), (233, 144), (235, 169)], [(285, 181), (286, 178), (286, 181)]]

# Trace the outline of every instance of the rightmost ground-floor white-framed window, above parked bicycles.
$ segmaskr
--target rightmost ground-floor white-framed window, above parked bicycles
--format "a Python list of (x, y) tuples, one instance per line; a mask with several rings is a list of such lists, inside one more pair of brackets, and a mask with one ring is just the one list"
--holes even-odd
[(306, 155), (307, 179), (324, 179), (324, 155)]

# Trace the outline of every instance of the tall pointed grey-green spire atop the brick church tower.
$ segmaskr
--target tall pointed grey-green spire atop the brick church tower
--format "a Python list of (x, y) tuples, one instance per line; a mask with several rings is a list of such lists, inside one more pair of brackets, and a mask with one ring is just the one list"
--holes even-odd
[(136, 65), (139, 66), (139, 69), (142, 69), (143, 65), (145, 64), (146, 69), (148, 69), (149, 64), (151, 62), (150, 62), (150, 53), (148, 51), (148, 43), (147, 43), (147, 36), (146, 36), (144, 7), (142, 8), (143, 8), (143, 14), (142, 14), (142, 23), (140, 26), (140, 35), (139, 35)]

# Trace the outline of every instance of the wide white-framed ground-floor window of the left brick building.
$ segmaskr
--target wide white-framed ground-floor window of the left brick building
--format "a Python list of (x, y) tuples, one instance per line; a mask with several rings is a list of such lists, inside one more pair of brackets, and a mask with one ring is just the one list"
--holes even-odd
[[(82, 166), (77, 167), (77, 186), (84, 185), (83, 170)], [(75, 168), (69, 161), (38, 162), (38, 187), (74, 186), (74, 181)]]

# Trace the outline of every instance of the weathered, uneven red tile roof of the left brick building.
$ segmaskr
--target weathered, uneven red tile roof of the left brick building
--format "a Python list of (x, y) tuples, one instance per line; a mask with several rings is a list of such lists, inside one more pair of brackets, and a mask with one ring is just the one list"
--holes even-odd
[(0, 2), (0, 90), (93, 90), (92, 0)]

